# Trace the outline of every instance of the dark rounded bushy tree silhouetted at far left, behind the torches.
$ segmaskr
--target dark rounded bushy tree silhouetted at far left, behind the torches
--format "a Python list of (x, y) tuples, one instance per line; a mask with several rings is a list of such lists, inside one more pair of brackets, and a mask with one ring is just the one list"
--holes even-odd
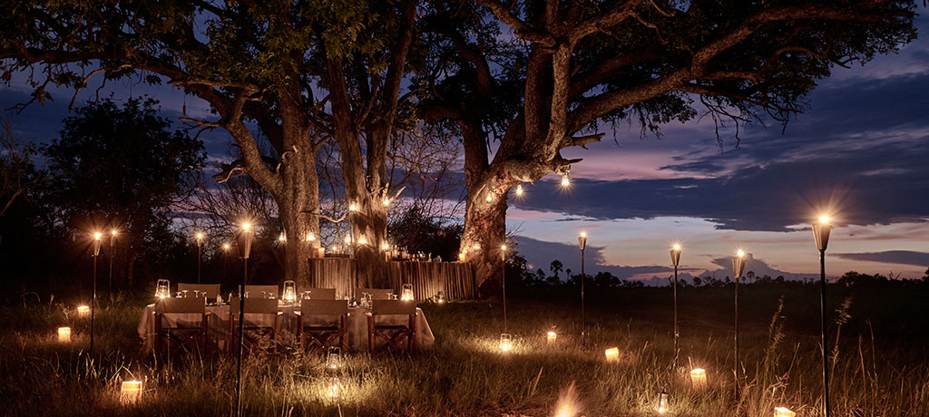
[(60, 137), (43, 150), (49, 176), (44, 198), (61, 226), (79, 241), (119, 230), (117, 258), (129, 286), (137, 260), (165, 247), (159, 240), (170, 235), (172, 213), (194, 189), (206, 160), (203, 143), (173, 129), (156, 103), (88, 103), (65, 118)]

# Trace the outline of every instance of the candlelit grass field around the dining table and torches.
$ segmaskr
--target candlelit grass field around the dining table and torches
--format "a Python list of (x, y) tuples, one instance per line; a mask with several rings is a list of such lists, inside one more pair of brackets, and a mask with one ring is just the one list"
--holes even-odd
[[(732, 289), (680, 293), (681, 365), (674, 370), (670, 289), (588, 292), (589, 338), (581, 347), (580, 306), (571, 291), (511, 297), (502, 354), (499, 302), (423, 305), (436, 344), (403, 352), (355, 353), (337, 379), (315, 355), (288, 351), (245, 363), (248, 415), (551, 416), (561, 397), (576, 397), (585, 416), (772, 416), (784, 406), (820, 415), (818, 292), (810, 287), (743, 287), (741, 358), (745, 378), (734, 396)], [(831, 289), (831, 402), (835, 416), (924, 416), (926, 293)], [(559, 297), (567, 296), (564, 300)], [(780, 301), (782, 300), (782, 302)], [(46, 302), (0, 307), (0, 410), (6, 415), (229, 415), (235, 361), (187, 356), (165, 363), (141, 354), (136, 326), (146, 300), (108, 300), (98, 314), (96, 355), (86, 355), (87, 323), (73, 305)], [(842, 314), (836, 310), (843, 310)], [(55, 330), (71, 325), (72, 344)], [(545, 332), (556, 326), (555, 345)], [(840, 335), (837, 338), (837, 333)], [(838, 340), (838, 343), (836, 342)], [(604, 349), (618, 347), (609, 363)], [(690, 386), (691, 367), (707, 370), (706, 389)], [(145, 382), (137, 405), (118, 401), (124, 379)], [(337, 399), (329, 397), (336, 381)], [(568, 387), (573, 385), (573, 396)], [(563, 404), (562, 404), (563, 405)], [(566, 414), (569, 415), (569, 414)]]

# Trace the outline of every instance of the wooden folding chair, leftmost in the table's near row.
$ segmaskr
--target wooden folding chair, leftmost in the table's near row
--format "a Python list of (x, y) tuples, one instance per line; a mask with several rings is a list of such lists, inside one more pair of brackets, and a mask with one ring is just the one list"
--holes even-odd
[[(168, 344), (168, 353), (174, 355), (180, 349), (190, 350), (190, 345), (200, 351), (206, 350), (206, 306), (202, 298), (163, 298), (155, 303), (155, 352), (162, 348), (162, 341)], [(165, 314), (190, 314), (196, 326), (183, 325), (184, 319), (177, 318), (174, 326), (165, 326)], [(171, 347), (171, 341), (177, 345)]]

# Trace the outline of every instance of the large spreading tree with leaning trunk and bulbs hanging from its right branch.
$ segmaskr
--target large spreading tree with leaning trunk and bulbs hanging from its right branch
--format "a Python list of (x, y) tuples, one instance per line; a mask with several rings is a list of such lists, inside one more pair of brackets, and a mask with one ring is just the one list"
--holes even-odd
[[(707, 112), (719, 123), (802, 111), (834, 66), (915, 36), (909, 0), (437, 1), (425, 24), (431, 97), (420, 114), (464, 139), (463, 251), (499, 274), (509, 190), (567, 174), (561, 150), (622, 120), (643, 132)], [(442, 18), (438, 18), (441, 16)], [(498, 33), (504, 26), (512, 31)], [(517, 90), (514, 92), (514, 90)], [(499, 145), (491, 155), (489, 143)]]

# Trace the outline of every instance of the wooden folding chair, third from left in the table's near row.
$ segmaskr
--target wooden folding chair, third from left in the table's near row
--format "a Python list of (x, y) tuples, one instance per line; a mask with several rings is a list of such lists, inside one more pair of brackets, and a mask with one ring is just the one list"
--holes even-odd
[[(348, 345), (348, 300), (303, 300), (296, 319), (296, 340), (301, 348), (325, 352), (338, 342), (343, 350)], [(304, 343), (304, 333), (307, 342)]]

